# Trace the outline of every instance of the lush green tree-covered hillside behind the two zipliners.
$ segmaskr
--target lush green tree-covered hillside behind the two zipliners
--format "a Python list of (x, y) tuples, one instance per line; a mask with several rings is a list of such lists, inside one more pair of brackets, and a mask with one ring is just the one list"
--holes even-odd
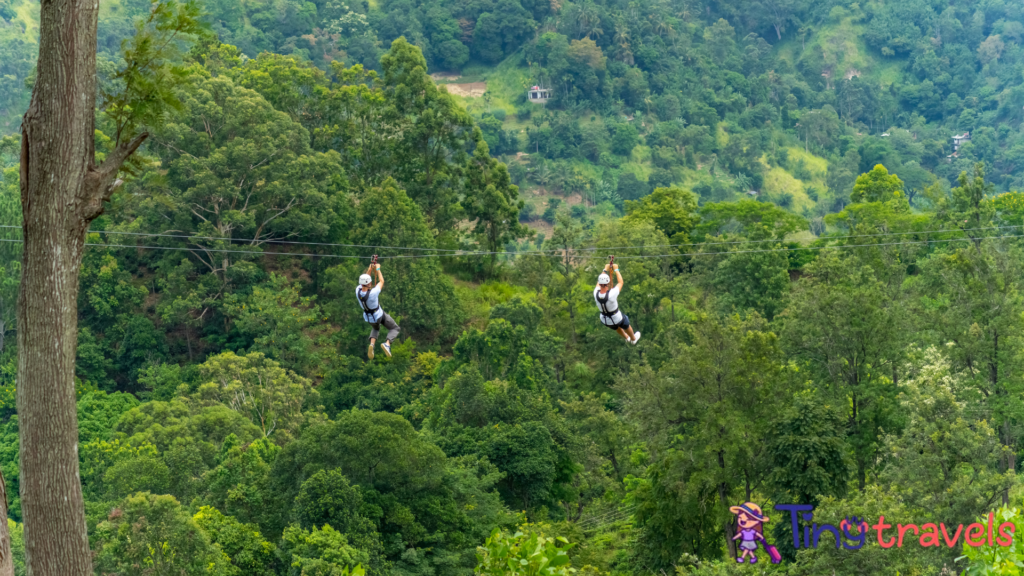
[[(0, 469), (24, 574), (38, 7), (0, 1)], [(122, 39), (181, 8), (154, 6), (101, 3), (101, 157), (117, 94), (144, 90)], [(96, 574), (1018, 573), (1021, 538), (798, 550), (772, 506), (995, 509), (1024, 534), (1020, 6), (189, 6), (208, 31), (174, 38), (152, 98), (170, 112), (86, 238)], [(370, 360), (353, 290), (374, 254), (401, 333)], [(598, 319), (609, 255), (636, 345)], [(781, 564), (735, 562), (744, 502)]]

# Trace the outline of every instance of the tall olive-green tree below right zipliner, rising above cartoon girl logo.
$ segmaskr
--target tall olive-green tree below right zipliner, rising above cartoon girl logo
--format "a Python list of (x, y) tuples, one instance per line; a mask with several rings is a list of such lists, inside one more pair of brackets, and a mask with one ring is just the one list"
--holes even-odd
[[(627, 418), (657, 460), (637, 494), (637, 523), (649, 566), (671, 564), (680, 550), (734, 558), (733, 500), (749, 501), (767, 476), (759, 463), (770, 438), (771, 416), (783, 406), (785, 368), (777, 336), (764, 319), (701, 315), (687, 327), (675, 362), (654, 371), (643, 366), (618, 383)], [(678, 493), (657, 486), (680, 485)], [(667, 523), (683, 502), (710, 506), (699, 523)], [(696, 513), (696, 512), (695, 512)], [(676, 526), (673, 526), (676, 524)], [(692, 533), (707, 525), (716, 542)]]

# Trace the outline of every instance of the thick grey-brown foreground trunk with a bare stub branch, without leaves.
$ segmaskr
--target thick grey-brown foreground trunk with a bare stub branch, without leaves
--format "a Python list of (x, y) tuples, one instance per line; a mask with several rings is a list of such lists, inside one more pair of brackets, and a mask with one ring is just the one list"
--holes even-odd
[(145, 138), (95, 165), (95, 0), (41, 4), (37, 79), (22, 122), (25, 249), (17, 300), (17, 413), (28, 573), (87, 576), (92, 560), (78, 467), (75, 352), (85, 231)]

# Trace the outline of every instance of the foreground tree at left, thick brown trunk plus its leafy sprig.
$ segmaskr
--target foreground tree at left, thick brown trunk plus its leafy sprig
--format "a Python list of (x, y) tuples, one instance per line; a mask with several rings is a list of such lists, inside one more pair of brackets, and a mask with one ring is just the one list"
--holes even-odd
[[(108, 91), (96, 81), (98, 6), (58, 0), (40, 7), (39, 60), (22, 121), (27, 249), (17, 306), (17, 408), (26, 416), (22, 496), (33, 574), (92, 572), (74, 405), (85, 233), (123, 182), (118, 174), (148, 136), (145, 127), (177, 108), (180, 50), (204, 33), (200, 12), (195, 2), (153, 2), (122, 42), (124, 66)], [(111, 136), (99, 151), (97, 92), (103, 95), (99, 123)], [(6, 529), (0, 526), (0, 534)]]

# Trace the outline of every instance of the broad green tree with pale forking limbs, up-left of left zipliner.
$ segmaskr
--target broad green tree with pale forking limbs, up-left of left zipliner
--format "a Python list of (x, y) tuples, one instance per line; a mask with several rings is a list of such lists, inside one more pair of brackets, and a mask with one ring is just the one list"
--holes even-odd
[(344, 186), (338, 154), (312, 152), (305, 128), (226, 76), (197, 74), (177, 97), (184, 113), (160, 134), (167, 189), (148, 215), (203, 237), (189, 250), (208, 272), (226, 281), (234, 255), (219, 250), (255, 254), (272, 240), (328, 234)]

